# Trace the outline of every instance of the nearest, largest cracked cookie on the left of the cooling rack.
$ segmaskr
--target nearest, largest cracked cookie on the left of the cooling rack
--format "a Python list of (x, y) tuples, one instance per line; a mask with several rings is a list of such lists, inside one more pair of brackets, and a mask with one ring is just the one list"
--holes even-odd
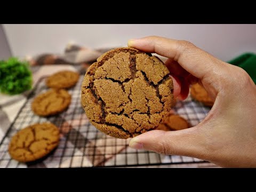
[(19, 162), (35, 161), (57, 147), (59, 139), (59, 129), (52, 123), (30, 125), (12, 137), (9, 154)]

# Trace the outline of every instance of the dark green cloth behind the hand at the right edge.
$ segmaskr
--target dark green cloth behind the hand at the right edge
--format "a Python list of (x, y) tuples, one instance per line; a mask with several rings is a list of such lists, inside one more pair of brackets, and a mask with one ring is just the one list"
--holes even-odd
[(243, 68), (256, 84), (256, 54), (244, 53), (228, 61), (228, 63)]

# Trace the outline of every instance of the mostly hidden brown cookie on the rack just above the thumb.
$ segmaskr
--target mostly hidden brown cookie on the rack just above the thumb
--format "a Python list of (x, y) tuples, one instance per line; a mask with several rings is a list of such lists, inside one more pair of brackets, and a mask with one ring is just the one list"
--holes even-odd
[(178, 131), (182, 129), (188, 129), (189, 123), (185, 118), (182, 118), (179, 115), (169, 115), (166, 117), (165, 122), (161, 123), (157, 130), (163, 131)]

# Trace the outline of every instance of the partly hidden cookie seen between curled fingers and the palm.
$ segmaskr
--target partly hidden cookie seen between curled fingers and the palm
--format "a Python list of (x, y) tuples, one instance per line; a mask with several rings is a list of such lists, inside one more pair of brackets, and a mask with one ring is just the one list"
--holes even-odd
[(214, 101), (210, 98), (204, 87), (199, 85), (198, 83), (191, 86), (190, 94), (192, 98), (199, 102), (202, 102), (205, 106), (213, 106)]

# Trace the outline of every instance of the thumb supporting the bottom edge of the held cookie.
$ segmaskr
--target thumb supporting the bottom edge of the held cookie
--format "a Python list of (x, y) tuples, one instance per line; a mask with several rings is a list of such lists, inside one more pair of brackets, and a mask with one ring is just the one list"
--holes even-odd
[(207, 150), (199, 127), (180, 131), (153, 130), (132, 138), (129, 146), (164, 155), (181, 155), (205, 159)]

